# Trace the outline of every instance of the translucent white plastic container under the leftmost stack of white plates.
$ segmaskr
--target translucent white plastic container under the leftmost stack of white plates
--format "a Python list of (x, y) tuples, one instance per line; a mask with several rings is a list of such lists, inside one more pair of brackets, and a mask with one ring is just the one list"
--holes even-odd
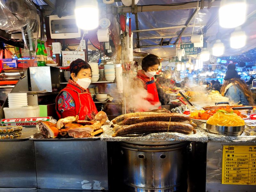
[(24, 106), (17, 108), (4, 108), (4, 116), (10, 118), (39, 117), (39, 106)]

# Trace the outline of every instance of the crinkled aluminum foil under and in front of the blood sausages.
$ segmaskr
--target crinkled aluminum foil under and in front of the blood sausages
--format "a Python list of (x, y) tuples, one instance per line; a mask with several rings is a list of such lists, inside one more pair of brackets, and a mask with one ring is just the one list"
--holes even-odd
[(100, 135), (100, 140), (103, 141), (197, 141), (207, 142), (208, 136), (201, 128), (196, 128), (196, 134), (183, 134), (177, 132), (160, 132), (160, 133), (146, 133), (146, 134), (133, 134), (129, 136), (112, 137), (113, 131), (109, 125), (104, 125), (104, 132)]

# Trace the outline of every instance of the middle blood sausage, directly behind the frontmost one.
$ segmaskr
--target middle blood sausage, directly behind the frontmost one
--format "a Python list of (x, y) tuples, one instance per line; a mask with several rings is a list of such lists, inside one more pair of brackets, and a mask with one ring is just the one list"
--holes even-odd
[(160, 113), (154, 115), (146, 115), (146, 116), (137, 116), (137, 117), (127, 117), (123, 121), (123, 125), (131, 125), (135, 123), (143, 123), (148, 121), (171, 121), (172, 122), (183, 122), (189, 123), (190, 117), (180, 113)]

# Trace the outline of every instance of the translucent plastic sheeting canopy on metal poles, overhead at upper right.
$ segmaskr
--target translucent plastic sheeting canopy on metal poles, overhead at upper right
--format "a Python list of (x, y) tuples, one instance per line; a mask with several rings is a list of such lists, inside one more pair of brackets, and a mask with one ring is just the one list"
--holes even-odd
[[(242, 29), (247, 35), (247, 43), (243, 48), (233, 49), (230, 47), (229, 38), (234, 28), (219, 27), (220, 0), (199, 1), (199, 6), (196, 1), (189, 0), (140, 0), (137, 10), (135, 6), (137, 16), (131, 14), (133, 43), (134, 45), (137, 43), (134, 48), (139, 48), (136, 51), (154, 52), (162, 58), (175, 56), (175, 45), (179, 43), (179, 37), (182, 43), (190, 42), (195, 21), (194, 35), (201, 34), (202, 29), (208, 47), (212, 47), (216, 41), (216, 34), (220, 31), (221, 41), (225, 45), (224, 56), (238, 55), (251, 50), (256, 47), (256, 4), (253, 0), (247, 0), (246, 3), (247, 20), (242, 25)], [(118, 7), (120, 13), (132, 12), (132, 7), (124, 7), (121, 2), (116, 2), (115, 6)], [(198, 9), (198, 14), (196, 14), (196, 9)], [(230, 14), (236, 13), (230, 12)], [(139, 38), (137, 38), (138, 35)], [(166, 42), (169, 46), (163, 46)]]

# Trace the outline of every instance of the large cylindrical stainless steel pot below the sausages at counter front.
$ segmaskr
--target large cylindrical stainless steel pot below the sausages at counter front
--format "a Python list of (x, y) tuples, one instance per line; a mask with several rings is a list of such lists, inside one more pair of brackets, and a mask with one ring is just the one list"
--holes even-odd
[(122, 142), (123, 180), (129, 191), (172, 192), (186, 186), (188, 142)]

